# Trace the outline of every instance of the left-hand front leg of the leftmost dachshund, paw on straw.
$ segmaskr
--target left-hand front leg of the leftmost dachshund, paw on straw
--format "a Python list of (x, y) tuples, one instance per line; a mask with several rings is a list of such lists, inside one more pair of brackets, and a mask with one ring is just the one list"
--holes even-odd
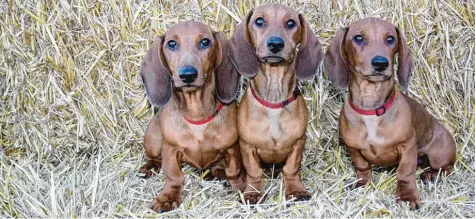
[(182, 161), (177, 149), (164, 144), (162, 154), (165, 158), (162, 163), (162, 169), (166, 178), (164, 189), (162, 189), (152, 204), (152, 209), (156, 212), (170, 211), (180, 205), (184, 183)]

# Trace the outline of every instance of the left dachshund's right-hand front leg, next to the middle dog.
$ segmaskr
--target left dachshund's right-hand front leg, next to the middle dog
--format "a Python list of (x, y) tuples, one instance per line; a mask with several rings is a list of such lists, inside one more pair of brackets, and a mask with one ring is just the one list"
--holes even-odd
[(226, 178), (230, 181), (231, 187), (243, 192), (246, 188), (246, 176), (243, 171), (243, 161), (241, 160), (240, 144), (238, 142), (227, 150), (225, 162)]

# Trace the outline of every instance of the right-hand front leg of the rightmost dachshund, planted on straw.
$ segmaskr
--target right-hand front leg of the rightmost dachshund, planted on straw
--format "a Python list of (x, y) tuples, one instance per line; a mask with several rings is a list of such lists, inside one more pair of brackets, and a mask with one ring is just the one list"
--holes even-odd
[(416, 191), (415, 170), (417, 167), (418, 148), (415, 137), (409, 143), (398, 146), (400, 161), (397, 167), (397, 202), (410, 202), (410, 209), (419, 209), (420, 196)]

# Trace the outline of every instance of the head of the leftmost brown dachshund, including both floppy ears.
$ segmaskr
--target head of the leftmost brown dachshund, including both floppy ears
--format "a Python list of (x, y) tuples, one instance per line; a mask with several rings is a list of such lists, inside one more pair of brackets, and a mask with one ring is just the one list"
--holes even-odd
[(163, 106), (172, 86), (183, 92), (200, 89), (215, 72), (217, 96), (225, 103), (238, 91), (239, 75), (228, 58), (223, 58), (228, 40), (202, 23), (188, 21), (157, 37), (141, 66), (149, 101)]

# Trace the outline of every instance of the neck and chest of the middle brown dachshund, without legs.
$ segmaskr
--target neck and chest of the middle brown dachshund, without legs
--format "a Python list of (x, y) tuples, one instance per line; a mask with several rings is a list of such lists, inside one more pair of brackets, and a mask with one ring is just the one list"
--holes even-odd
[[(286, 79), (289, 84), (283, 85), (286, 83), (280, 80)], [(270, 67), (269, 71), (258, 73), (250, 81), (250, 86), (259, 96), (269, 94), (269, 99), (285, 100), (292, 95), (296, 79), (285, 67)], [(279, 86), (285, 90), (282, 95), (279, 95)], [(304, 98), (298, 96), (285, 108), (268, 108), (258, 102), (248, 89), (240, 103), (238, 118), (243, 143), (256, 145), (256, 153), (265, 163), (285, 163), (293, 151), (292, 145), (306, 132), (307, 107)]]

